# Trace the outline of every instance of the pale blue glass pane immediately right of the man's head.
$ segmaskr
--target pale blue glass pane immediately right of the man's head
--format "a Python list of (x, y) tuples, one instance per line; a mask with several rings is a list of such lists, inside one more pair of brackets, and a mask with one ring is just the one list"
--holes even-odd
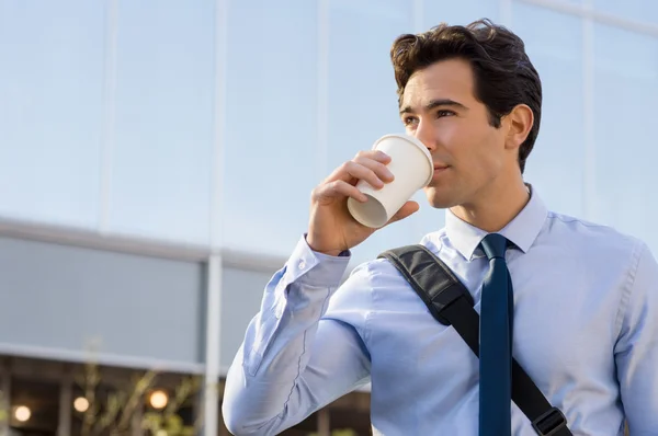
[[(536, 186), (548, 208), (582, 216), (581, 21), (577, 16), (522, 3), (514, 4), (513, 16), (512, 30), (525, 42), (543, 88), (540, 136), (527, 158), (525, 180)], [(540, 22), (542, 25), (536, 25)]]

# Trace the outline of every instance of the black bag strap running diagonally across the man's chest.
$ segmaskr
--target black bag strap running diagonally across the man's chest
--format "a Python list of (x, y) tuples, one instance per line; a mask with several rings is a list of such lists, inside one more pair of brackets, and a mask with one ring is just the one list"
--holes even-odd
[[(479, 314), (473, 297), (454, 273), (423, 245), (406, 245), (385, 251), (388, 260), (423, 300), (432, 315), (452, 325), (479, 357)], [(561, 411), (551, 405), (540, 388), (512, 359), (512, 400), (541, 436), (570, 436)]]

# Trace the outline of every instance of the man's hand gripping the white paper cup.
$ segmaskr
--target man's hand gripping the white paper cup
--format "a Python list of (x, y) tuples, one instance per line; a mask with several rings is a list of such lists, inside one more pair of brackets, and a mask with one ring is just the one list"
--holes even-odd
[[(361, 151), (313, 190), (306, 242), (314, 251), (338, 255), (359, 245), (377, 230), (361, 225), (352, 217), (348, 210), (348, 198), (366, 202), (366, 196), (355, 186), (360, 180), (374, 188), (393, 182), (394, 176), (386, 168), (389, 162), (390, 157), (382, 151)], [(386, 226), (407, 218), (418, 209), (418, 203), (407, 202)]]

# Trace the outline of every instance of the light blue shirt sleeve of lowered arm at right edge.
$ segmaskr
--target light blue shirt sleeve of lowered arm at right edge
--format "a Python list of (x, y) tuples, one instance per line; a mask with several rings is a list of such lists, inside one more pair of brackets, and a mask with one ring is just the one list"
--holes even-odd
[(658, 432), (658, 264), (642, 244), (615, 346), (622, 403), (633, 436)]

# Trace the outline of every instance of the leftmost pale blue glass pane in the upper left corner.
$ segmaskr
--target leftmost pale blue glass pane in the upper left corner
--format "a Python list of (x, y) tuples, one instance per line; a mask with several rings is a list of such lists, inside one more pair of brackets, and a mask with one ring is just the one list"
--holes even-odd
[(104, 3), (0, 2), (0, 214), (93, 228)]

